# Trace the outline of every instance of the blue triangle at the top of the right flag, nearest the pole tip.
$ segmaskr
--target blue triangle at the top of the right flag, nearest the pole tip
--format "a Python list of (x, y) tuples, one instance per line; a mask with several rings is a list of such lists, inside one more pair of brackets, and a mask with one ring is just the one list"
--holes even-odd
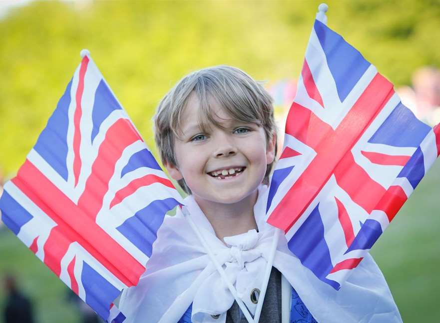
[(371, 64), (355, 47), (321, 21), (315, 20), (314, 28), (342, 102)]

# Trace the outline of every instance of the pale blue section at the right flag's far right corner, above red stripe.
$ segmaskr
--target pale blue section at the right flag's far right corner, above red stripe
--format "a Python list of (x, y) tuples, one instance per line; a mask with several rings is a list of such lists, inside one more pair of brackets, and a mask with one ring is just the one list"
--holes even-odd
[(402, 102), (368, 140), (397, 147), (418, 147), (431, 127), (420, 121)]

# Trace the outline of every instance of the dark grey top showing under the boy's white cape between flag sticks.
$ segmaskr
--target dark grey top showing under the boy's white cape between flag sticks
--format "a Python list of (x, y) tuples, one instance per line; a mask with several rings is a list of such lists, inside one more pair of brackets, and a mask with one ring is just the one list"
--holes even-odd
[[(247, 323), (236, 301), (226, 313), (226, 323)], [(275, 267), (270, 272), (259, 323), (281, 323), (281, 272)]]

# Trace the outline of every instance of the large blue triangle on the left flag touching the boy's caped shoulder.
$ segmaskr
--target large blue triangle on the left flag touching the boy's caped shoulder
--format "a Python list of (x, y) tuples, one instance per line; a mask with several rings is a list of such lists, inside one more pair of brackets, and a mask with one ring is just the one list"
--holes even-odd
[(172, 197), (156, 199), (146, 207), (126, 219), (117, 229), (147, 256), (151, 256), (156, 232), (163, 222), (165, 213), (178, 205)]

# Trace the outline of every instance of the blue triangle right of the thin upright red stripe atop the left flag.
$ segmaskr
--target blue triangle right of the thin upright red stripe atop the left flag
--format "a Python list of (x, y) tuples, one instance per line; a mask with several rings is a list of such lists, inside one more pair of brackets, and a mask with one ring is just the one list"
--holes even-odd
[(98, 134), (102, 121), (104, 121), (112, 111), (117, 109), (122, 109), (122, 107), (119, 105), (116, 97), (114, 97), (105, 81), (101, 79), (96, 88), (95, 100), (93, 103), (93, 129), (90, 137), (91, 142), (93, 142), (93, 139)]

